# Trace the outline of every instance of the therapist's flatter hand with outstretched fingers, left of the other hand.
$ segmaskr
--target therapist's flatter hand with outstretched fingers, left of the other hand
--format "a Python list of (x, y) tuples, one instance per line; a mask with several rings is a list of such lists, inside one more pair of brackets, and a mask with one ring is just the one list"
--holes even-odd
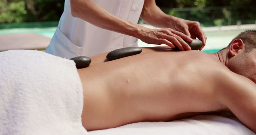
[(136, 38), (148, 44), (166, 44), (171, 48), (178, 47), (181, 51), (191, 50), (184, 40), (192, 42), (192, 38), (171, 28), (150, 29), (142, 26), (136, 33)]

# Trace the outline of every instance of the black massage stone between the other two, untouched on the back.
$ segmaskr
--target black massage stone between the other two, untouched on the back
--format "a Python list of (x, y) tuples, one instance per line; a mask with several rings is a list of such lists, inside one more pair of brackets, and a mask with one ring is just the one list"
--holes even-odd
[(124, 58), (127, 56), (132, 56), (135, 54), (140, 54), (142, 49), (139, 47), (128, 47), (128, 48), (121, 48), (117, 50), (113, 50), (107, 54), (108, 60), (116, 60), (120, 58)]

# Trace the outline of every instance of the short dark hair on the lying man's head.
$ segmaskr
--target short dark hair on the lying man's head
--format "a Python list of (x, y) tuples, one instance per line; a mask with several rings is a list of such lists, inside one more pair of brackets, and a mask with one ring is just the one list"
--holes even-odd
[(245, 52), (250, 52), (252, 51), (252, 49), (256, 48), (256, 30), (246, 30), (244, 32), (241, 32), (238, 36), (236, 36), (229, 44), (226, 48), (227, 49), (230, 47), (231, 43), (235, 40), (235, 39), (241, 39), (243, 40), (244, 44), (245, 44)]

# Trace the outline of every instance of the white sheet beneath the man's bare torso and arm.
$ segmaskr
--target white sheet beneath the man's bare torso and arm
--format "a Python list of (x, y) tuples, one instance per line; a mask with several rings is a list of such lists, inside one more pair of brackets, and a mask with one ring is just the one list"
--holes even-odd
[(233, 115), (198, 115), (171, 122), (139, 122), (89, 135), (256, 135)]

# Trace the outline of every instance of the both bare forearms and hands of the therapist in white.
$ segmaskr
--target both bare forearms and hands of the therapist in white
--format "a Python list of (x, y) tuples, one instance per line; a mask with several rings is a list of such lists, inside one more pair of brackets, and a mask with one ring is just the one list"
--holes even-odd
[(95, 4), (92, 0), (70, 0), (70, 6), (74, 17), (103, 29), (134, 36), (148, 44), (166, 44), (171, 48), (174, 48), (175, 44), (182, 51), (191, 50), (184, 40), (192, 42), (192, 38), (197, 37), (203, 42), (203, 47), (205, 46), (206, 36), (199, 22), (183, 20), (164, 14), (156, 6), (155, 0), (145, 0), (140, 17), (149, 24), (162, 29), (149, 29), (127, 20), (122, 20)]

